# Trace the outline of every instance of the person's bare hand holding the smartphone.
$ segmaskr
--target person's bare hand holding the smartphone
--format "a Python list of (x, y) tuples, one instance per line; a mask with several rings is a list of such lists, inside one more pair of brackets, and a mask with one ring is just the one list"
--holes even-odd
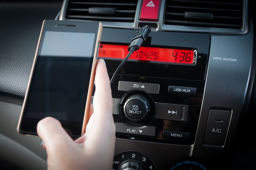
[(38, 122), (38, 136), (44, 141), (48, 170), (111, 170), (115, 151), (115, 123), (112, 116), (110, 80), (104, 60), (99, 59), (95, 93), (86, 132), (75, 141), (61, 123), (47, 117)]

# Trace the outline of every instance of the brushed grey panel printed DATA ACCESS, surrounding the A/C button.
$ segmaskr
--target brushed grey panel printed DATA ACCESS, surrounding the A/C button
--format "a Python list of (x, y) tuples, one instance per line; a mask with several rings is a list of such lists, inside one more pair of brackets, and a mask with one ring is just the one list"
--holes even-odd
[[(252, 31), (245, 36), (211, 36), (207, 79), (193, 156), (215, 160), (229, 148), (243, 114), (245, 101), (250, 97), (248, 89), (252, 85), (249, 80), (254, 73), (253, 64)], [(211, 108), (232, 113), (224, 147), (203, 145)]]

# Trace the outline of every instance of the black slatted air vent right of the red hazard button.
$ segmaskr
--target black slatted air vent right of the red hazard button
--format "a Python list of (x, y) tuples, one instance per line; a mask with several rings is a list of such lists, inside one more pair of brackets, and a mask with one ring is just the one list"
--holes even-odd
[(164, 23), (242, 29), (243, 0), (167, 0)]

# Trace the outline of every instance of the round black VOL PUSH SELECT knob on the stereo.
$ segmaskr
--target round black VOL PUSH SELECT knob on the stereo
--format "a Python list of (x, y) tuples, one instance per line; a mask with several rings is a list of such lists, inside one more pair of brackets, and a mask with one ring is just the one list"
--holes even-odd
[(132, 121), (145, 119), (151, 111), (149, 100), (141, 94), (128, 97), (123, 107), (125, 116)]

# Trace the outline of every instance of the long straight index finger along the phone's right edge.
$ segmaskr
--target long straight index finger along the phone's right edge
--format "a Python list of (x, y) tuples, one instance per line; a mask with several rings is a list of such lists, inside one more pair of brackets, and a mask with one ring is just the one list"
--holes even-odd
[[(94, 112), (88, 122), (85, 133), (86, 141), (93, 143), (95, 148), (99, 149), (97, 145), (115, 144), (115, 124), (112, 115), (112, 105), (112, 92), (106, 63), (100, 59), (97, 62), (95, 74)], [(99, 136), (101, 136), (102, 140), (99, 140)], [(104, 141), (109, 143), (103, 144)]]

